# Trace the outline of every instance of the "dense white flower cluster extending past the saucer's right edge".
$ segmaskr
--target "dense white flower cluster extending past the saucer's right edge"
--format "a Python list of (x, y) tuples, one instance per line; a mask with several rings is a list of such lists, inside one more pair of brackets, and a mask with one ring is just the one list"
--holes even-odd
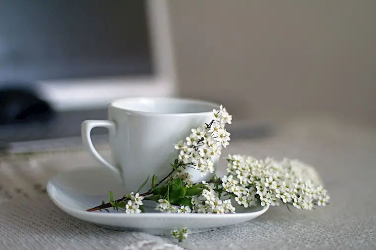
[(233, 193), (238, 204), (244, 207), (256, 205), (258, 199), (261, 206), (278, 206), (282, 201), (297, 209), (310, 210), (314, 205), (325, 206), (329, 201), (322, 186), (293, 171), (295, 164), (304, 165), (297, 160), (278, 162), (267, 158), (258, 161), (240, 155), (229, 155), (227, 160), (229, 174), (222, 178), (223, 188)]

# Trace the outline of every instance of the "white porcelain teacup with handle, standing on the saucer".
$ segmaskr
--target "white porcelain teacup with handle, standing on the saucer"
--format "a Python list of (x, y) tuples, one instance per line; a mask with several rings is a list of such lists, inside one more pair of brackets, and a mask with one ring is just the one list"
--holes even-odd
[[(81, 135), (94, 159), (111, 171), (125, 186), (126, 193), (136, 191), (147, 176), (158, 180), (172, 170), (178, 156), (174, 143), (185, 140), (192, 128), (203, 127), (213, 118), (219, 105), (204, 101), (174, 98), (129, 98), (108, 105), (108, 120), (86, 120)], [(95, 150), (90, 133), (94, 127), (109, 130), (113, 164)], [(192, 169), (194, 181), (201, 181)], [(196, 173), (196, 174), (195, 174)], [(140, 192), (146, 192), (150, 184)]]

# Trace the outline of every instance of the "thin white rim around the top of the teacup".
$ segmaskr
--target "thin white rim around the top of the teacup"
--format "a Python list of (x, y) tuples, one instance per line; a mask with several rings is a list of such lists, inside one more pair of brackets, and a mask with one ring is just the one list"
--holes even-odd
[[(202, 111), (202, 112), (185, 112), (185, 113), (158, 113), (158, 112), (149, 112), (149, 111), (140, 111), (140, 110), (134, 110), (134, 109), (129, 109), (129, 108), (123, 108), (123, 107), (118, 107), (115, 106), (115, 103), (121, 102), (121, 101), (178, 101), (178, 102), (184, 102), (184, 103), (190, 103), (190, 104), (202, 104), (202, 105), (207, 105), (208, 111)], [(213, 113), (213, 109), (219, 109), (220, 105), (213, 103), (213, 102), (208, 102), (208, 101), (203, 101), (203, 100), (198, 100), (198, 99), (190, 99), (190, 98), (176, 98), (176, 97), (130, 97), (130, 98), (121, 98), (121, 99), (116, 99), (108, 103), (107, 108), (115, 108), (115, 109), (120, 109), (123, 111), (127, 111), (130, 113), (135, 113), (135, 114), (142, 114), (145, 116), (153, 116), (153, 115), (158, 115), (158, 116), (185, 116), (185, 115), (203, 115), (203, 114), (211, 114)], [(209, 110), (210, 109), (210, 110)]]

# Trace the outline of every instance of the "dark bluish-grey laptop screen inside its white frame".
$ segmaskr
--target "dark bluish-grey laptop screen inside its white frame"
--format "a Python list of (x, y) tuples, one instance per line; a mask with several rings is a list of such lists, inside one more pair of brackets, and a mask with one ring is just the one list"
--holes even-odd
[(1, 0), (0, 81), (152, 74), (141, 0)]

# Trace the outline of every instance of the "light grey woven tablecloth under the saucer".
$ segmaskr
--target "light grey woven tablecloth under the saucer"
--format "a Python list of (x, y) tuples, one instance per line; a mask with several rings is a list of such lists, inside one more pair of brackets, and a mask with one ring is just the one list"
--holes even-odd
[[(100, 147), (108, 156), (107, 146)], [(61, 170), (95, 166), (85, 151), (7, 155), (0, 163), (0, 250), (376, 249), (375, 129), (296, 120), (281, 124), (275, 136), (237, 140), (224, 153), (286, 156), (313, 165), (330, 205), (292, 213), (274, 207), (249, 222), (189, 235), (178, 244), (169, 237), (111, 231), (60, 211), (46, 194), (47, 180)]]

